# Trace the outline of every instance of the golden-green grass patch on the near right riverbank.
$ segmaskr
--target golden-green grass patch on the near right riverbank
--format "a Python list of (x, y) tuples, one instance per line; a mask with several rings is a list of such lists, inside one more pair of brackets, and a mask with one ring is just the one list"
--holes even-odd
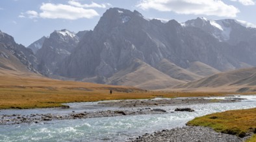
[[(256, 132), (256, 108), (248, 110), (229, 110), (196, 117), (187, 124), (211, 127), (217, 132), (244, 137), (248, 132)], [(251, 139), (255, 140), (255, 138), (254, 136), (254, 138)]]

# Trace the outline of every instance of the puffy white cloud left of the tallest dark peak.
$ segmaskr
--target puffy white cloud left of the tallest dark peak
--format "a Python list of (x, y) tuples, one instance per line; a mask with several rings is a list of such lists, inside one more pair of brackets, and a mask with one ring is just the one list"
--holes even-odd
[(70, 19), (75, 20), (79, 18), (92, 18), (99, 15), (96, 10), (84, 9), (81, 7), (75, 7), (71, 5), (43, 3), (40, 7), (42, 12), (40, 17), (49, 19)]

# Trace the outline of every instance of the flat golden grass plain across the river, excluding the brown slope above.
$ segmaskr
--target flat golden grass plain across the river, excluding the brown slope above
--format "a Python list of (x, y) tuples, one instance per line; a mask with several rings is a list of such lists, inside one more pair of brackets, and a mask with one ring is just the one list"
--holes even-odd
[[(113, 93), (110, 94), (109, 90)], [(152, 99), (155, 97), (224, 96), (225, 93), (153, 92), (125, 86), (93, 87), (31, 87), (0, 88), (0, 109), (63, 107), (62, 103), (117, 99)]]

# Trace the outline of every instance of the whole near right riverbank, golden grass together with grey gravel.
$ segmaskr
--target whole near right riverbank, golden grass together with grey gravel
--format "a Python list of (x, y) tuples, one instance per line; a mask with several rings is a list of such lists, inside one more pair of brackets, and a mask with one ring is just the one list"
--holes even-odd
[(183, 128), (162, 130), (130, 141), (256, 141), (256, 108), (196, 117)]

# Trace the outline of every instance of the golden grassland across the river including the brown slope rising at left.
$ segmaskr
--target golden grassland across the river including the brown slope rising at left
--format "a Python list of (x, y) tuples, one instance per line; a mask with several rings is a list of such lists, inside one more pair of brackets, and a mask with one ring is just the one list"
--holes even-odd
[[(109, 90), (113, 94), (109, 94)], [(99, 85), (48, 79), (37, 74), (0, 70), (0, 109), (61, 107), (62, 103), (155, 97), (224, 96), (227, 92), (151, 92), (131, 86)], [(233, 93), (232, 93), (233, 94)]]

